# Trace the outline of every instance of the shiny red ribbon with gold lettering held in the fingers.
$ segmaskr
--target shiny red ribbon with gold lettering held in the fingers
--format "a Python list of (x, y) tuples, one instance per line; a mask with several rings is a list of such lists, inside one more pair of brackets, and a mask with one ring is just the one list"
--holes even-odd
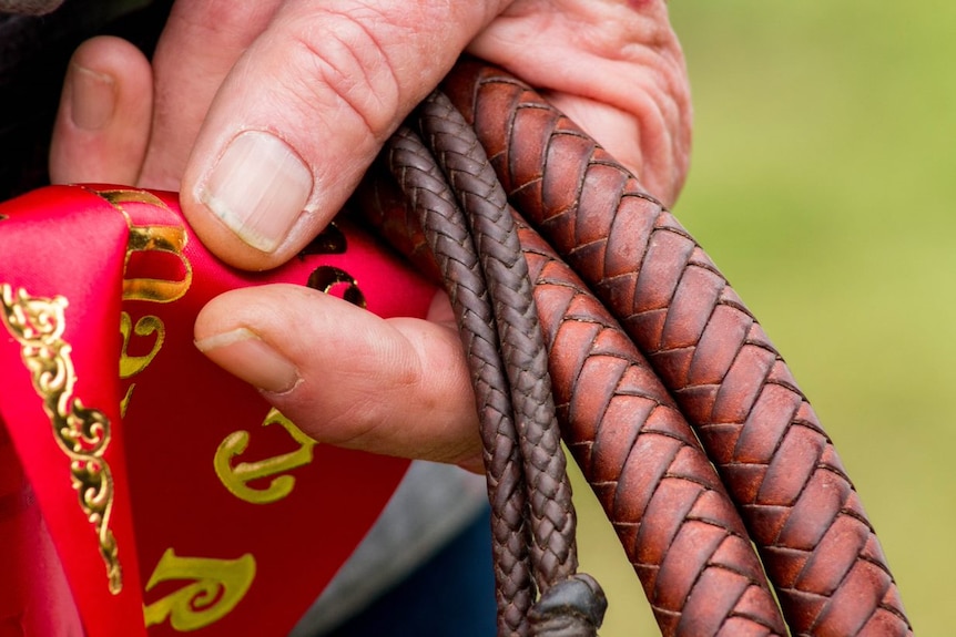
[[(144, 607), (151, 637), (287, 634), (375, 521), (407, 462), (309, 446), (292, 438), (291, 425), (264, 425), (268, 404), (195, 350), (192, 323), (224, 290), (305, 284), (317, 268), (325, 268), (319, 279), (347, 279), (329, 294), (342, 296), (355, 280), (370, 311), (424, 316), (433, 288), (342, 224), (344, 254), (247, 274), (203, 248), (172, 194), (55, 186), (0, 205), (0, 310), (8, 312), (0, 325), (0, 636), (73, 634), (67, 628), (79, 620), (89, 637), (134, 637), (146, 633)], [(58, 296), (65, 307), (51, 300)], [(63, 331), (52, 348), (18, 336), (9, 312), (23, 299), (61, 307)], [(51, 383), (31, 371), (31, 360), (72, 364), (74, 382), (59, 405), (44, 409)], [(109, 421), (105, 451), (90, 465), (112, 476), (105, 525), (81, 505), (75, 459), (53, 428), (51, 409), (72, 414), (62, 422), (75, 425), (89, 418), (82, 408)], [(241, 431), (247, 448), (238, 453), (236, 443), (230, 456), (220, 448)], [(274, 474), (266, 466), (266, 475), (238, 487), (234, 476), (221, 477), (223, 459), (231, 474), (275, 458), (286, 462)], [(287, 494), (274, 491), (281, 483), (271, 487), (288, 476)], [(269, 489), (272, 500), (248, 501)], [(122, 568), (114, 592), (98, 536), (104, 526)]]

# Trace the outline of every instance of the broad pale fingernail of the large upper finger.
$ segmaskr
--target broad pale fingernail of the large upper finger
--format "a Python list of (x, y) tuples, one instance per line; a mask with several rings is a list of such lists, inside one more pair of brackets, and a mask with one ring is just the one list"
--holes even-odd
[(243, 242), (272, 253), (302, 214), (312, 186), (312, 172), (288, 144), (248, 131), (200, 181), (196, 197)]

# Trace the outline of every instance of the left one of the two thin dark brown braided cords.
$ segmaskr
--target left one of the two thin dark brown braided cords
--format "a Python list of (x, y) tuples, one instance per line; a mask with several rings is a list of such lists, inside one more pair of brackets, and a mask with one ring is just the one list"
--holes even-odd
[[(498, 355), (495, 317), (488, 302), (478, 253), (445, 176), (408, 127), (386, 147), (388, 167), (417, 214), (428, 246), (451, 298), (471, 369), (481, 420), (488, 496), (491, 500), (491, 552), (495, 565), (498, 635), (526, 636), (535, 586), (528, 563), (526, 490), (508, 380)], [(409, 222), (410, 223), (410, 222)]]

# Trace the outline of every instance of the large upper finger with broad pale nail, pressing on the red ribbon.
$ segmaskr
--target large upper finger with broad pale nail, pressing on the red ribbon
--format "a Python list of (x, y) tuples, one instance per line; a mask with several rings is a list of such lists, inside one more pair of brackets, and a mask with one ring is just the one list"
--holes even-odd
[(288, 259), (506, 0), (289, 2), (217, 93), (181, 202), (217, 256)]

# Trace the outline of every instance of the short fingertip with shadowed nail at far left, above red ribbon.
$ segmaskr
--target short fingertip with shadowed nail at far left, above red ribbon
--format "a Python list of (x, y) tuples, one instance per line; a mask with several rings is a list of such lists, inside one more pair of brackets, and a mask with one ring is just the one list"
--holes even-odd
[(135, 184), (150, 135), (152, 71), (139, 49), (101, 37), (70, 60), (50, 146), (57, 183)]

